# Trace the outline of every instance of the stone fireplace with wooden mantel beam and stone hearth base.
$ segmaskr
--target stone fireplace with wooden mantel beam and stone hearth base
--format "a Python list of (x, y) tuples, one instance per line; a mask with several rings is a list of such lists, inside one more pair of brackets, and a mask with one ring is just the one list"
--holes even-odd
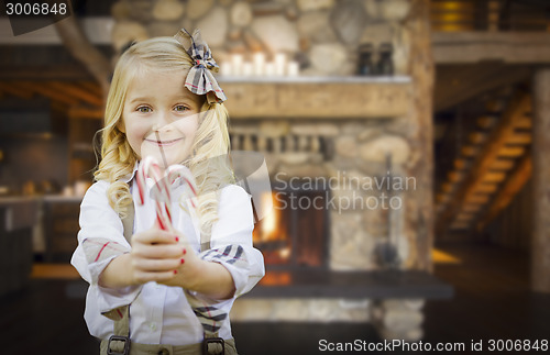
[[(418, 229), (417, 181), (409, 175), (420, 157), (410, 143), (407, 77), (222, 79), (222, 85), (232, 99), (232, 149), (262, 153), (272, 182), (266, 193), (273, 213), (254, 233), (266, 259), (262, 285), (292, 284), (293, 274), (285, 271), (293, 269), (345, 274), (417, 267), (417, 245), (426, 234)], [(273, 117), (275, 111), (280, 115)], [(262, 240), (262, 233), (268, 236)], [(300, 254), (300, 247), (310, 254)], [(244, 297), (231, 315), (235, 321), (380, 323), (398, 314), (398, 331), (384, 325), (382, 334), (415, 340), (421, 336), (422, 304), (421, 298), (300, 293)]]

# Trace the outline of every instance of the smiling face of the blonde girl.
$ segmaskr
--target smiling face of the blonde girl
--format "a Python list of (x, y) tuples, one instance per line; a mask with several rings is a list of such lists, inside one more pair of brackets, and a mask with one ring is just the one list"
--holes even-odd
[(202, 98), (184, 86), (186, 76), (148, 69), (130, 84), (121, 130), (139, 158), (152, 155), (167, 167), (191, 154)]

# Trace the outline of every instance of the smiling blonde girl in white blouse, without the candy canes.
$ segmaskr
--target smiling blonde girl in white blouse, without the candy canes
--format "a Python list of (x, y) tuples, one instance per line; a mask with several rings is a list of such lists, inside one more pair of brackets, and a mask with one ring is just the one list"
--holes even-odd
[[(250, 196), (215, 158), (229, 154), (217, 68), (198, 31), (185, 30), (134, 44), (117, 64), (102, 159), (72, 259), (90, 284), (85, 320), (101, 354), (237, 354), (228, 313), (264, 264), (252, 246)], [(196, 209), (184, 186), (172, 188), (168, 230), (155, 222), (148, 191), (135, 202), (138, 164), (147, 155), (164, 168), (188, 167), (197, 182)]]

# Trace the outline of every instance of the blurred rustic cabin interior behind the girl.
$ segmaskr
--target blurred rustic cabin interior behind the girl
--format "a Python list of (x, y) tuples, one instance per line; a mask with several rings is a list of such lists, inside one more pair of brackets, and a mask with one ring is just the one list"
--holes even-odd
[(200, 29), (220, 66), (231, 149), (257, 153), (271, 181), (252, 193), (266, 275), (230, 314), (241, 354), (356, 340), (548, 351), (549, 1), (73, 0), (40, 21), (2, 9), (6, 353), (98, 353), (69, 262), (113, 66), (180, 27)]

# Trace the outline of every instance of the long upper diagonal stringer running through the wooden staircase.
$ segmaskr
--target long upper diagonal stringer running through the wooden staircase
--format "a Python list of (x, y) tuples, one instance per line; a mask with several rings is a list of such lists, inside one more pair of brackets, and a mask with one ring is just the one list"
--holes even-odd
[[(453, 219), (462, 204), (469, 201), (483, 202), (482, 198), (476, 196), (476, 187), (486, 181), (486, 175), (492, 170), (492, 166), (498, 160), (501, 148), (507, 143), (509, 136), (515, 132), (515, 124), (522, 120), (525, 112), (530, 111), (530, 97), (526, 93), (518, 93), (512, 98), (508, 109), (497, 126), (493, 130), (487, 143), (477, 155), (475, 163), (469, 171), (469, 176), (460, 188), (454, 190), (451, 203), (438, 215), (436, 231), (444, 234), (449, 221)], [(488, 198), (485, 202), (488, 201)]]

